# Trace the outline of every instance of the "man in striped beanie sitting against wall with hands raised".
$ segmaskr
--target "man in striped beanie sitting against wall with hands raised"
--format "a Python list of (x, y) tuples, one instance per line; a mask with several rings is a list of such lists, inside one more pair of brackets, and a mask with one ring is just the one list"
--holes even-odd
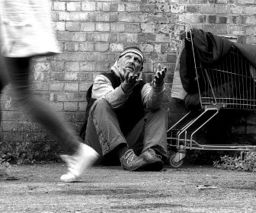
[(168, 113), (160, 108), (166, 68), (158, 65), (146, 84), (143, 62), (138, 47), (126, 48), (110, 72), (94, 79), (87, 108), (85, 143), (106, 161), (119, 157), (124, 170), (162, 170), (167, 157)]

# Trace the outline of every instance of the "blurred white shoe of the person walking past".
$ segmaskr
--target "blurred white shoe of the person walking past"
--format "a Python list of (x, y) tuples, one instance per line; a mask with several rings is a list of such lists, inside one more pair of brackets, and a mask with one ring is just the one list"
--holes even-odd
[(80, 144), (78, 151), (73, 155), (61, 155), (63, 161), (66, 162), (69, 172), (62, 175), (60, 180), (63, 182), (75, 182), (82, 172), (92, 166), (98, 159), (99, 154), (88, 145)]

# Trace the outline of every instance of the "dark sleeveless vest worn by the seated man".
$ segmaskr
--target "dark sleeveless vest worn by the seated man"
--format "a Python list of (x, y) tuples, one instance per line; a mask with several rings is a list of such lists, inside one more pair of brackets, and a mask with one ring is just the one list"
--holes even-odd
[[(105, 72), (101, 73), (101, 75), (104, 75), (110, 80), (114, 89), (120, 86), (120, 77), (118, 77), (114, 72)], [(117, 119), (120, 123), (120, 129), (123, 132), (123, 135), (127, 135), (133, 129), (136, 123), (139, 122), (139, 120), (142, 119), (143, 116), (145, 116), (144, 106), (141, 97), (141, 91), (144, 84), (145, 82), (143, 81), (136, 84), (135, 87), (133, 88), (132, 94), (130, 94), (130, 96), (126, 100), (126, 103), (124, 103), (118, 109), (114, 109), (117, 114)], [(91, 90), (92, 85), (91, 87), (89, 87), (86, 94), (86, 100), (88, 105), (86, 106), (85, 110), (85, 123), (83, 124), (82, 129), (80, 131), (80, 137), (83, 140), (85, 140), (85, 132), (89, 111), (91, 109), (92, 104), (96, 100), (91, 97)]]

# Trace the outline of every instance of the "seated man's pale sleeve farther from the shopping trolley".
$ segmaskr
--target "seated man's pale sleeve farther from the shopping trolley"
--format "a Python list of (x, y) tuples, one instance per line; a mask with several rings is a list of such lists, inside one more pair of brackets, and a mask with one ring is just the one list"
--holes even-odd
[(105, 77), (104, 75), (98, 75), (94, 79), (91, 97), (95, 99), (102, 98), (104, 100), (107, 100), (107, 102), (110, 103), (110, 105), (114, 109), (117, 109), (126, 102), (129, 94), (125, 94), (123, 92), (121, 85), (114, 89), (110, 80), (107, 77)]

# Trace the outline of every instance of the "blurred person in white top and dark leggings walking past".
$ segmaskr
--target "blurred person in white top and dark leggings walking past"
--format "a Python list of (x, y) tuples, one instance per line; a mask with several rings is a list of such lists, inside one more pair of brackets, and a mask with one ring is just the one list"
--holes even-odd
[[(73, 182), (91, 167), (98, 153), (79, 141), (78, 135), (60, 116), (30, 91), (30, 60), (59, 53), (46, 0), (0, 0), (2, 56), (16, 100), (27, 113), (56, 135), (68, 154), (61, 156), (69, 172), (61, 176)], [(1, 72), (1, 71), (0, 71)]]

